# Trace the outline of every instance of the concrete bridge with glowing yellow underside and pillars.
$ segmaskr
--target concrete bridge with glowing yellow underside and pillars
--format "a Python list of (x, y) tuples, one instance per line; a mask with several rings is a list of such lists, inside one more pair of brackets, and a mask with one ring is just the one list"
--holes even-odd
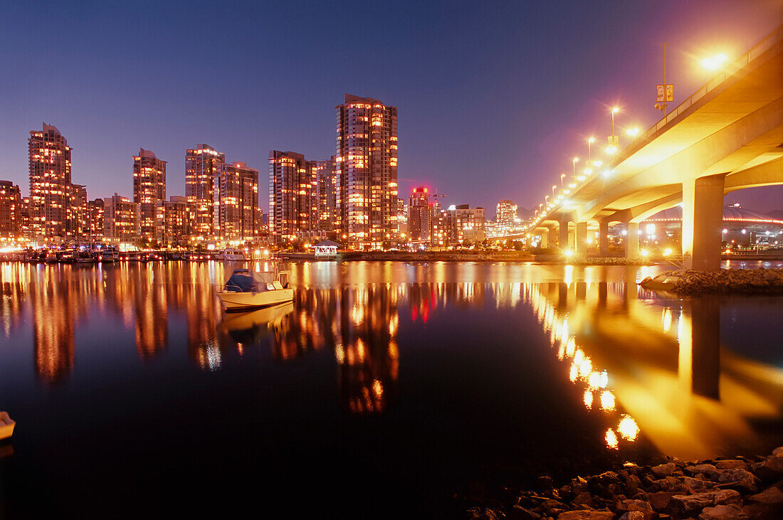
[(783, 184), (783, 25), (608, 164), (595, 163), (529, 223), (542, 246), (585, 256), (590, 224), (605, 256), (609, 225), (624, 223), (626, 256), (636, 256), (639, 222), (682, 204), (685, 266), (718, 270), (723, 195)]

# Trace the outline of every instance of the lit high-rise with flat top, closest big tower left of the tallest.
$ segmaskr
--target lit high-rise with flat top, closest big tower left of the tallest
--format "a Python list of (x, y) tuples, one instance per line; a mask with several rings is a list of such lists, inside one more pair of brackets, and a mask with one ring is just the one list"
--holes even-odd
[(269, 234), (276, 243), (316, 231), (316, 161), (296, 152), (269, 152)]

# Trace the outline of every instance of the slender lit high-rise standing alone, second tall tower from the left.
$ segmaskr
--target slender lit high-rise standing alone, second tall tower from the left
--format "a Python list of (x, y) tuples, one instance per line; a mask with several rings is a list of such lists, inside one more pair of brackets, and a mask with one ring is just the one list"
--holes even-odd
[(166, 163), (143, 148), (133, 156), (133, 202), (139, 204), (139, 232), (147, 240), (163, 239)]

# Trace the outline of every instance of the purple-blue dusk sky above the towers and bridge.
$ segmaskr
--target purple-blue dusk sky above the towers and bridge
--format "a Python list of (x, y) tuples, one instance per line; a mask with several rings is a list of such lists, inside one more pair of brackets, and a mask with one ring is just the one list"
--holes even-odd
[[(334, 155), (345, 93), (399, 108), (400, 196), (527, 208), (585, 138), (645, 130), (662, 82), (675, 103), (709, 80), (699, 60), (737, 57), (783, 21), (753, 2), (6, 2), (0, 16), (0, 179), (28, 191), (27, 138), (65, 135), (89, 197), (132, 197), (139, 147), (184, 195), (185, 149), (207, 143), (259, 170), (269, 150)], [(627, 140), (626, 140), (627, 142)], [(783, 187), (730, 195), (783, 209)]]

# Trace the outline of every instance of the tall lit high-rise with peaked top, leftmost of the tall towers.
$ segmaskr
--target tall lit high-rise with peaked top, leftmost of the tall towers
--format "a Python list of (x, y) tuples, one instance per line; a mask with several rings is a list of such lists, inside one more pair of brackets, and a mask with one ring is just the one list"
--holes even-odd
[(70, 152), (56, 127), (30, 132), (27, 141), (33, 233), (47, 241), (67, 238)]

